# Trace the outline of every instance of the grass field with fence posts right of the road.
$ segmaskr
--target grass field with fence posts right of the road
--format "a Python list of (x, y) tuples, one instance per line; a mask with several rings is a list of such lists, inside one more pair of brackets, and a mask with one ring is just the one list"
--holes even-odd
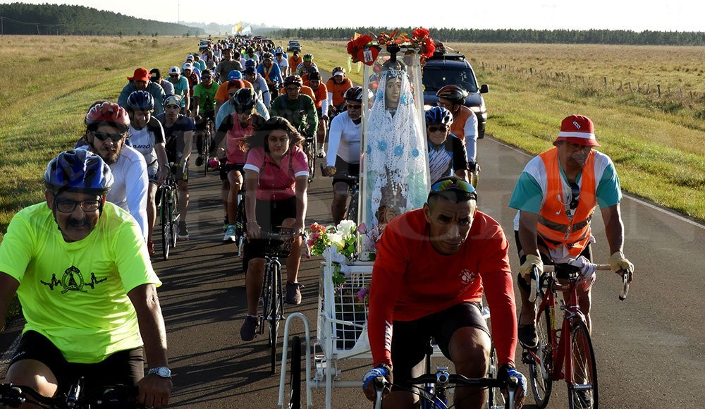
[[(448, 45), (465, 54), (479, 83), (490, 87), (484, 96), (489, 135), (537, 154), (551, 147), (561, 119), (587, 115), (624, 190), (705, 220), (705, 47)], [(314, 49), (323, 68), (329, 61), (346, 65), (344, 42), (302, 47)], [(357, 66), (350, 68), (361, 83)], [(482, 163), (482, 146), (479, 158)]]

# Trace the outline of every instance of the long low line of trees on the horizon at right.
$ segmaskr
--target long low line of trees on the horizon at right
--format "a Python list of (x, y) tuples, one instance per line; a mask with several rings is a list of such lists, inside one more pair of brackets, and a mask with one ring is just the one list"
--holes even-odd
[[(415, 28), (400, 28), (411, 33)], [(430, 28), (431, 37), (443, 42), (533, 42), (564, 44), (705, 45), (705, 32), (630, 30), (476, 30)], [(268, 35), (295, 39), (350, 39), (353, 33), (375, 35), (388, 28), (291, 28), (270, 30)]]

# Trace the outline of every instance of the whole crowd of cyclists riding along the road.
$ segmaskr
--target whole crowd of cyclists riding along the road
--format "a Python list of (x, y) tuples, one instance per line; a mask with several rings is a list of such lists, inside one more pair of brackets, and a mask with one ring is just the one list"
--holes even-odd
[[(73, 366), (76, 363), (98, 365), (91, 371), (99, 371), (130, 361), (132, 369), (121, 370), (125, 377), (116, 379), (144, 386), (140, 399), (149, 405), (159, 408), (168, 403), (171, 380), (166, 335), (155, 289), (161, 283), (149, 257), (155, 253), (152, 236), (157, 220), (157, 190), (170, 173), (178, 183), (178, 238), (190, 238), (188, 181), (194, 142), (195, 164), (203, 166), (207, 162), (219, 169), (225, 214), (223, 242), (235, 243), (238, 195), (245, 189), (247, 243), (243, 268), (247, 270), (247, 315), (240, 328), (241, 338), (250, 341), (257, 334), (257, 307), (264, 274), (264, 244), (258, 239), (272, 226), (290, 227), (296, 233), (286, 260), (286, 302), (301, 303), (300, 233), (304, 231), (307, 187), (314, 170), (309, 169), (303, 142), (305, 138), (317, 139), (319, 149), (315, 154), (325, 159), (321, 166), (323, 176), (332, 177), (331, 215), (337, 224), (348, 212), (351, 182), (346, 176), (360, 173), (362, 107), (363, 102), (372, 101), (373, 95), (354, 86), (340, 66), (332, 69), (331, 78), (324, 83), (312, 54), (290, 54), (269, 39), (221, 39), (187, 54), (183, 63), (166, 71), (166, 78), (162, 78), (159, 68), (135, 69), (117, 103), (98, 101), (90, 106), (85, 116), (85, 135), (76, 142), (75, 150), (63, 152), (51, 161), (44, 175), (48, 209), (37, 205), (20, 212), (0, 246), (0, 271), (5, 273), (0, 274), (2, 303), (11, 294), (19, 293), (31, 330), (23, 336), (13, 359), (10, 379), (30, 382), (42, 393), (51, 394), (65, 384), (61, 377), (80, 372), (79, 367)], [(419, 353), (423, 355), (421, 338), (415, 335), (419, 328), (424, 336), (436, 338), (459, 373), (483, 376), (490, 348), (490, 331), (479, 315), (478, 302), (483, 292), (492, 310), (500, 373), (523, 381), (514, 362), (517, 338), (526, 348), (537, 342), (535, 312), (527, 300), (525, 278), (530, 269), (540, 270), (544, 263), (565, 263), (581, 256), (585, 262), (591, 260), (590, 243), (594, 239), (589, 221), (596, 205), (603, 212), (613, 269), (633, 270), (623, 255), (621, 192), (614, 165), (606, 155), (591, 149), (599, 144), (589, 118), (568, 116), (554, 142), (556, 149), (527, 164), (510, 202), (518, 210), (515, 241), (522, 262), (518, 278), (522, 314), (517, 329), (508, 240), (494, 219), (477, 210), (478, 193), (471, 180), (477, 169), (477, 118), (462, 104), (467, 97), (462, 87), (448, 84), (438, 96), (438, 106), (425, 112), (432, 182), (427, 204), (389, 224), (378, 248), (369, 307), (374, 370), (366, 374), (366, 385), (374, 376), (391, 381), (392, 373), (396, 384), (403, 385), (417, 372)], [(204, 138), (211, 131), (213, 138)], [(324, 149), (326, 140), (328, 149)], [(42, 226), (32, 217), (41, 218)], [(47, 226), (54, 224), (61, 234), (47, 236), (51, 231)], [(117, 238), (102, 238), (107, 224), (120, 226), (125, 233)], [(56, 226), (53, 230), (56, 233)], [(94, 230), (99, 233), (92, 235)], [(131, 341), (116, 346), (106, 339), (90, 359), (66, 353), (64, 348), (70, 348), (55, 340), (71, 339), (71, 334), (67, 338), (66, 334), (46, 329), (51, 326), (51, 319), (44, 312), (25, 306), (32, 303), (37, 291), (58, 279), (56, 271), (48, 267), (50, 261), (27, 244), (27, 237), (51, 242), (56, 260), (68, 257), (69, 268), (62, 268), (63, 279), (68, 280), (68, 274), (75, 280), (79, 270), (84, 274), (89, 270), (106, 271), (105, 277), (117, 276), (124, 288), (111, 283), (112, 288), (102, 295), (119, 299), (111, 303), (118, 303), (125, 316), (132, 314), (125, 318), (128, 324), (113, 329), (122, 331), (125, 325), (129, 326)], [(99, 256), (86, 265), (78, 259), (92, 247), (85, 250), (75, 245), (84, 239), (93, 243), (91, 246), (98, 245), (96, 240), (104, 240), (102, 250), (95, 250)], [(129, 245), (123, 246), (124, 243)], [(18, 248), (23, 251), (13, 254)], [(66, 254), (59, 255), (60, 252)], [(101, 267), (95, 268), (94, 264)], [(446, 266), (451, 272), (439, 275), (439, 266)], [(141, 279), (128, 278), (126, 271), (135, 269), (140, 271)], [(54, 277), (47, 271), (53, 271)], [(30, 273), (39, 277), (33, 278), (34, 283), (27, 283), (25, 276)], [(92, 274), (91, 291), (99, 288), (96, 283), (104, 278)], [(66, 280), (59, 279), (59, 286), (69, 291), (73, 281)], [(591, 282), (580, 293), (586, 313)], [(80, 286), (85, 285), (81, 277)], [(465, 290), (458, 292), (457, 288)], [(431, 293), (436, 299), (446, 297), (446, 301), (443, 305), (419, 301)], [(61, 300), (56, 303), (60, 311), (67, 308), (59, 305)], [(60, 316), (68, 316), (77, 308), (78, 301), (71, 303)], [(4, 317), (6, 310), (0, 312)], [(90, 312), (106, 316), (103, 310)], [(86, 332), (80, 336), (88, 336), (90, 325), (81, 328)], [(135, 370), (135, 365), (144, 361), (141, 344), (135, 341), (140, 334), (150, 365), (149, 375), (154, 374), (147, 381), (140, 380), (144, 375), (141, 370)], [(412, 338), (417, 341), (410, 342)], [(50, 360), (46, 350), (41, 353), (52, 344), (66, 360)], [(124, 350), (128, 351), (126, 355), (115, 358), (119, 362), (106, 363), (116, 356), (112, 353)], [(135, 354), (140, 356), (131, 361), (129, 357)], [(27, 359), (31, 362), (27, 363)], [(27, 374), (40, 374), (44, 381), (32, 381)], [(409, 407), (413, 396), (402, 389), (393, 389), (385, 407)], [(370, 396), (369, 386), (365, 392)], [(478, 407), (477, 398), (464, 400), (467, 393), (456, 395), (458, 407)], [(590, 408), (589, 402), (583, 404), (583, 408)]]

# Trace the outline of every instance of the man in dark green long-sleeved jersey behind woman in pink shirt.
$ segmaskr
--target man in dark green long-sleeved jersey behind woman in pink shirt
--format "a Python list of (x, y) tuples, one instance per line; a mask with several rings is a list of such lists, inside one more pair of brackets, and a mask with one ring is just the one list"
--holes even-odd
[(284, 79), (284, 92), (271, 102), (271, 116), (286, 118), (302, 135), (313, 138), (318, 129), (318, 115), (312, 97), (303, 95), (303, 82), (298, 75)]

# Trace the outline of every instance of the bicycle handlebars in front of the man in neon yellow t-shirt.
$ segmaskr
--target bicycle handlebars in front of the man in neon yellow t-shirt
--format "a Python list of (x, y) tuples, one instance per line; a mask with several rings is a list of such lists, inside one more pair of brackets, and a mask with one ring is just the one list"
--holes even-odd
[(83, 379), (71, 385), (68, 393), (47, 397), (30, 388), (16, 384), (0, 384), (0, 403), (18, 408), (24, 403), (46, 409), (145, 408), (137, 403), (137, 386), (101, 386), (87, 393)]

